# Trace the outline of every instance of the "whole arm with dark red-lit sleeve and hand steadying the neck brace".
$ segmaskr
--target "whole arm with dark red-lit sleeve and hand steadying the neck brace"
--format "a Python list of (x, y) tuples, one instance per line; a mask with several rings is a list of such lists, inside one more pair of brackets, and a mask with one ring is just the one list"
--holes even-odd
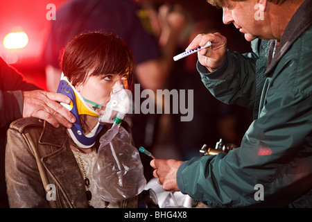
[(46, 92), (26, 82), (24, 77), (0, 58), (0, 126), (21, 117), (45, 119), (53, 126), (70, 128), (75, 117), (60, 102), (69, 104), (69, 97)]

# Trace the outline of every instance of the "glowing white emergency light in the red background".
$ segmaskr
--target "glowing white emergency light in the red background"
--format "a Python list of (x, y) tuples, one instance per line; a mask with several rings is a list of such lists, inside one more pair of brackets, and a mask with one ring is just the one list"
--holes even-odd
[(6, 49), (21, 49), (28, 44), (28, 36), (24, 32), (8, 33), (3, 39)]

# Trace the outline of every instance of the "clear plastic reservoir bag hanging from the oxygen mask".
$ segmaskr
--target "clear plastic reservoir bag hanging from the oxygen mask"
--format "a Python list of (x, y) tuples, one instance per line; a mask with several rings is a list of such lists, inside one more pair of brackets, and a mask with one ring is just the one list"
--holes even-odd
[(107, 202), (137, 196), (146, 187), (143, 165), (128, 132), (114, 124), (100, 139), (92, 176), (98, 192)]

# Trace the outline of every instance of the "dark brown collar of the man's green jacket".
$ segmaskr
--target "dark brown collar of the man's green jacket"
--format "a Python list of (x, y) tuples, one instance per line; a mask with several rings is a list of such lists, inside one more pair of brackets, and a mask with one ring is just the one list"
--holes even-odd
[(266, 74), (277, 65), (277, 62), (291, 48), (293, 43), (309, 28), (312, 24), (312, 0), (305, 0), (297, 9), (288, 25), (285, 28), (284, 34), (279, 42), (274, 58), (272, 58), (272, 49), (274, 48), (274, 40), (271, 41), (270, 51), (268, 53), (268, 68)]

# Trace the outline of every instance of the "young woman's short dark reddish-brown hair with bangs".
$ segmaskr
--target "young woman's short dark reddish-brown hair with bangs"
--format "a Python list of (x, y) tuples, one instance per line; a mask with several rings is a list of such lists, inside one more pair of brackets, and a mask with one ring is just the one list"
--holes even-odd
[(87, 74), (128, 74), (128, 86), (132, 88), (132, 70), (135, 59), (130, 48), (112, 34), (94, 32), (77, 35), (62, 52), (61, 68), (72, 85), (84, 83)]

